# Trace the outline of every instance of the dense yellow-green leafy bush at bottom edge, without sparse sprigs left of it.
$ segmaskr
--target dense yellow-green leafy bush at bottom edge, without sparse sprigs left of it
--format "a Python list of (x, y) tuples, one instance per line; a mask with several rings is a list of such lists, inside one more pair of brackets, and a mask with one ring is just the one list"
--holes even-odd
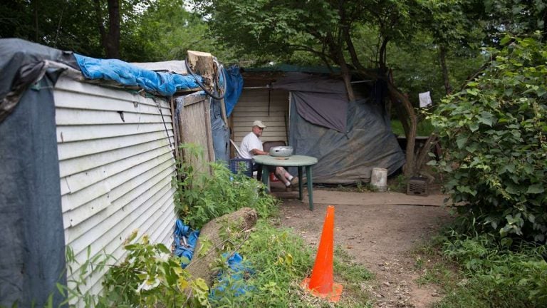
[[(97, 307), (206, 307), (209, 287), (203, 279), (192, 279), (165, 245), (127, 240), (127, 257), (108, 270), (103, 296)], [(186, 293), (192, 289), (192, 297)]]

